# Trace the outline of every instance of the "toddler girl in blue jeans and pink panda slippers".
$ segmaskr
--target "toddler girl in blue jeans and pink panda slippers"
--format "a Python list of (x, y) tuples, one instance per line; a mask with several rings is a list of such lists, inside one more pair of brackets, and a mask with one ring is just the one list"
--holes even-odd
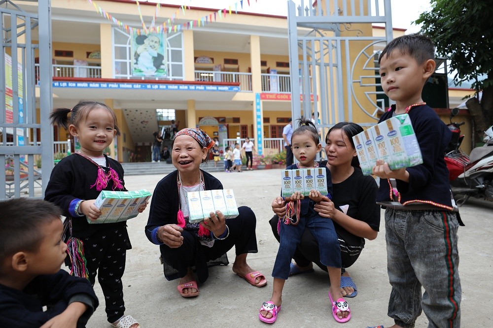
[[(320, 145), (317, 129), (310, 120), (300, 118), (298, 121), (299, 128), (293, 131), (289, 141), (299, 164), (289, 165), (286, 169), (318, 167), (315, 159), (322, 146)], [(309, 199), (303, 197), (300, 192), (295, 192), (291, 197), (285, 197), (287, 204), (286, 216), (279, 218), (278, 223), (280, 245), (272, 271), (272, 276), (274, 277), (272, 297), (268, 302), (262, 304), (258, 314), (259, 319), (265, 323), (274, 323), (281, 310), (282, 289), (289, 276), (291, 259), (296, 246), (300, 243), (305, 227), (308, 227), (318, 240), (320, 262), (327, 266), (330, 278), (329, 298), (334, 319), (337, 322), (344, 323), (351, 318), (348, 303), (344, 300), (340, 289), (341, 249), (334, 223), (331, 219), (322, 218), (314, 210), (316, 202), (332, 198), (330, 171), (326, 166), (323, 169), (327, 177), (326, 195), (321, 195), (320, 192), (312, 190), (308, 197)], [(334, 299), (337, 301), (334, 301)]]

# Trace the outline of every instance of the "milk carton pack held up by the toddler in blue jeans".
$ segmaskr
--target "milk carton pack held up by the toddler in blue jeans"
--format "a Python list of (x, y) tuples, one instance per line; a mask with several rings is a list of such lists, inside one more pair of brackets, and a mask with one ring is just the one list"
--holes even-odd
[(312, 190), (327, 195), (327, 174), (324, 167), (282, 170), (281, 178), (282, 197), (289, 197), (295, 192), (308, 196)]

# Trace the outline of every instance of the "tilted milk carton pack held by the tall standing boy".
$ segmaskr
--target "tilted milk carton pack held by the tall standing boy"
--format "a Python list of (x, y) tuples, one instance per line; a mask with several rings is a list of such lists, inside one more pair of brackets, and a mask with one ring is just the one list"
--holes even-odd
[(383, 160), (392, 170), (423, 163), (408, 114), (395, 115), (353, 136), (352, 140), (364, 175), (372, 173), (377, 160)]

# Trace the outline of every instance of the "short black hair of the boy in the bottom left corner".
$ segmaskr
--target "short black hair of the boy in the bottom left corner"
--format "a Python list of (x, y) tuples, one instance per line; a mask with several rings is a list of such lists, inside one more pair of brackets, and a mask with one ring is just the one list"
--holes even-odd
[(0, 262), (20, 251), (34, 252), (44, 237), (41, 226), (61, 215), (53, 203), (25, 197), (0, 201), (0, 213)]

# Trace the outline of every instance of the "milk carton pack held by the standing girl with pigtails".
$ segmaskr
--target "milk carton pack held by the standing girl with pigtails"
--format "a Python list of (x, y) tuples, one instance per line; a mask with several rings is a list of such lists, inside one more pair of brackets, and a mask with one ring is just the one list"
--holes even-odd
[(135, 218), (139, 214), (139, 207), (145, 204), (149, 197), (151, 193), (145, 189), (129, 192), (103, 190), (94, 201), (94, 205), (101, 210), (101, 215), (98, 220), (87, 219), (87, 222), (114, 223)]

